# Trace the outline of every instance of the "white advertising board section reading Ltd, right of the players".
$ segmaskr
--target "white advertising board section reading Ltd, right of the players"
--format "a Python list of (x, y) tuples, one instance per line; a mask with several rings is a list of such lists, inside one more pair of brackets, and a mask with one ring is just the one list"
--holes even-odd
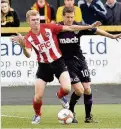
[(80, 46), (93, 84), (121, 83), (121, 40), (82, 36)]

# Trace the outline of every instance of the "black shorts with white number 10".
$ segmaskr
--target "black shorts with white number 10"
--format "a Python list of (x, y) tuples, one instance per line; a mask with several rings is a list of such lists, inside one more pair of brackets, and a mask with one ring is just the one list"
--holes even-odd
[(71, 77), (71, 84), (91, 81), (90, 73), (85, 59), (74, 56), (72, 59), (65, 59), (65, 64), (67, 65)]

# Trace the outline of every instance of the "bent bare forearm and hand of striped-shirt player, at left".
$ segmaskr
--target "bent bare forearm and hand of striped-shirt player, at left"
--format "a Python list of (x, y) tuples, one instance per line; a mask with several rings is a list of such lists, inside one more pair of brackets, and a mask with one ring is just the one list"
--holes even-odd
[(31, 56), (31, 49), (30, 48), (26, 48), (26, 46), (25, 46), (26, 40), (25, 40), (24, 36), (22, 36), (21, 34), (17, 34), (17, 36), (13, 36), (11, 38), (11, 40), (20, 43), (20, 45), (21, 45), (21, 47), (23, 49), (24, 55), (27, 58), (30, 58), (30, 56)]

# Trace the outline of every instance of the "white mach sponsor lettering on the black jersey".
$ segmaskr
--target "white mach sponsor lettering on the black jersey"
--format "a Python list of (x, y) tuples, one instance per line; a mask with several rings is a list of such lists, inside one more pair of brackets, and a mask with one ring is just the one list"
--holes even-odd
[(74, 36), (74, 38), (61, 38), (59, 39), (60, 43), (67, 44), (67, 43), (78, 43), (78, 38)]

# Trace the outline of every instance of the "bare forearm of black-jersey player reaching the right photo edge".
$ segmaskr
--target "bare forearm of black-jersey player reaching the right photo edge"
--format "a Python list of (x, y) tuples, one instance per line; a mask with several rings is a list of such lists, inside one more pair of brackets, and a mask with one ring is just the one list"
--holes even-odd
[(102, 35), (102, 36), (105, 36), (105, 37), (108, 37), (108, 38), (111, 38), (111, 39), (121, 38), (121, 33), (113, 35), (113, 34), (110, 34), (110, 33), (106, 32), (106, 31), (104, 31), (104, 30), (101, 30), (99, 28), (97, 28), (96, 34)]

